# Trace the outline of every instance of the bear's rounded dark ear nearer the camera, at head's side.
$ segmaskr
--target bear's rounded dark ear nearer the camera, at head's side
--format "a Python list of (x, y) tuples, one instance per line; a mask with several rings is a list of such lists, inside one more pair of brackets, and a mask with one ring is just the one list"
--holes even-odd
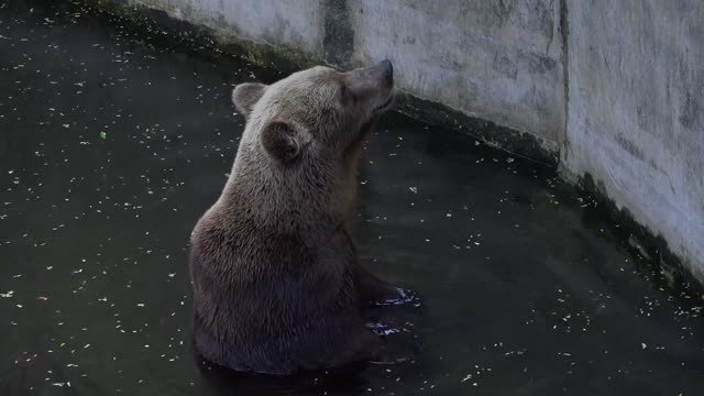
[(283, 164), (294, 162), (304, 148), (304, 133), (289, 122), (271, 121), (262, 129), (262, 145)]

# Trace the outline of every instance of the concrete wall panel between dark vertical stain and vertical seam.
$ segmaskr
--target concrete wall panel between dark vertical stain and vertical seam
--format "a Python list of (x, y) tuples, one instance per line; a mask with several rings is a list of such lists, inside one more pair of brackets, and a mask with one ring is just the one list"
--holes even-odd
[(558, 150), (564, 130), (559, 2), (349, 3), (355, 65), (392, 59), (398, 84), (411, 94)]

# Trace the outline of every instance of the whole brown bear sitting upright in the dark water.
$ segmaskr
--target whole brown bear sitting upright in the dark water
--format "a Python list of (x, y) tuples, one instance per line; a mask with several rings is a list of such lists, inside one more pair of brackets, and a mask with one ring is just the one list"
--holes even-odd
[(388, 61), (241, 84), (230, 178), (191, 235), (194, 343), (237, 371), (289, 374), (374, 356), (364, 306), (404, 297), (359, 263), (350, 223), (364, 140), (391, 107)]

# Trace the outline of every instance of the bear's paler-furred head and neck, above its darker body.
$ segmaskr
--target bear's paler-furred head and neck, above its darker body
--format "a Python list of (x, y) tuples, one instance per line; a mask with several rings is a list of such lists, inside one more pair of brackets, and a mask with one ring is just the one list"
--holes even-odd
[(294, 226), (298, 215), (305, 223), (319, 215), (350, 220), (363, 142), (391, 107), (393, 87), (388, 61), (351, 72), (319, 66), (272, 85), (238, 85), (232, 100), (246, 127), (223, 196), (235, 194), (238, 206), (260, 221), (278, 224), (285, 218)]

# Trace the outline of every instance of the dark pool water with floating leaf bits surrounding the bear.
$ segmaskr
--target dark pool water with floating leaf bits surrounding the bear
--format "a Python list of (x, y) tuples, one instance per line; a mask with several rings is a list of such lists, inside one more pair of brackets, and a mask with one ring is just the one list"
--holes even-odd
[(356, 238), (424, 298), (378, 312), (411, 360), (293, 378), (200, 364), (189, 232), (243, 129), (233, 84), (278, 76), (29, 8), (0, 0), (1, 395), (702, 394), (701, 296), (657, 286), (550, 170), (397, 113), (363, 162)]

